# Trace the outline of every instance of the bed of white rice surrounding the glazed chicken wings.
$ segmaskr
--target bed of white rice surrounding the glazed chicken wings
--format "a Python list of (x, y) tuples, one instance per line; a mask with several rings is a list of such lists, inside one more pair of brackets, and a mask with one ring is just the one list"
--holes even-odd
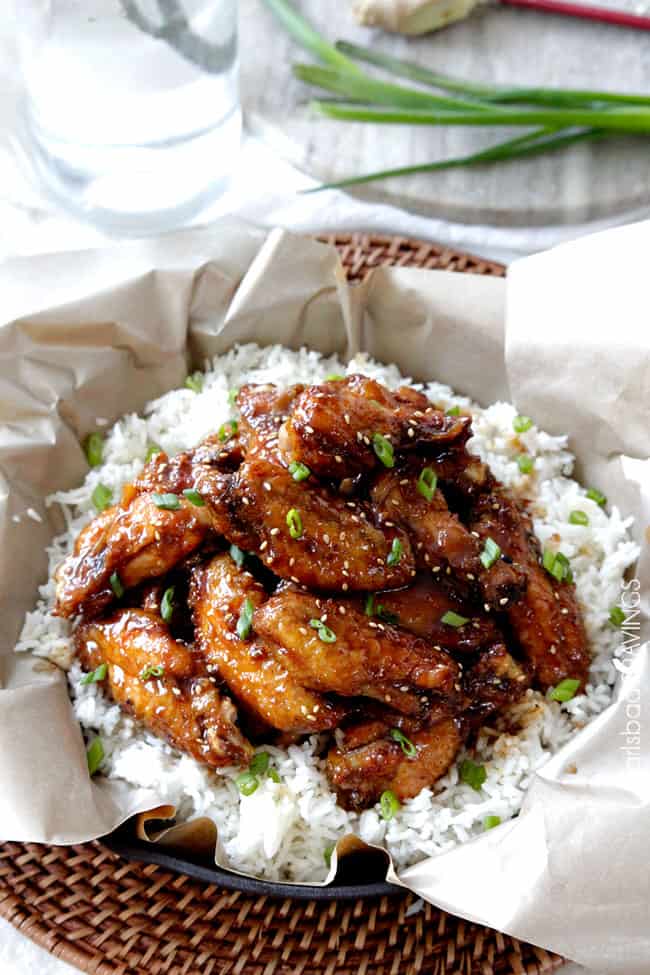
[[(174, 454), (212, 433), (232, 415), (229, 390), (244, 383), (318, 382), (330, 373), (346, 372), (365, 373), (391, 387), (408, 382), (395, 366), (365, 356), (346, 366), (306, 349), (292, 352), (279, 346), (245, 345), (211, 364), (202, 392), (174, 390), (150, 403), (143, 416), (121, 419), (107, 433), (103, 465), (91, 470), (80, 487), (49, 499), (61, 506), (68, 528), (49, 550), (51, 570), (93, 516), (95, 486), (105, 484), (117, 498), (122, 485), (143, 466), (149, 444)], [(480, 409), (438, 383), (430, 383), (425, 392), (445, 407), (459, 404), (472, 409), (471, 448), (515, 494), (532, 500), (535, 531), (542, 543), (557, 546), (560, 539), (559, 548), (571, 560), (593, 650), (585, 694), (560, 705), (528, 691), (509, 715), (507, 730), (498, 721), (483, 728), (471, 756), (487, 771), (480, 792), (459, 780), (454, 765), (434, 789), (423, 790), (388, 822), (377, 808), (360, 815), (345, 812), (328, 787), (319, 756), (321, 743), (314, 736), (286, 750), (265, 746), (280, 782), (264, 778), (253, 795), (244, 797), (234, 784), (238, 770), (214, 773), (198, 765), (124, 715), (97, 684), (80, 684), (70, 625), (52, 615), (51, 580), (41, 588), (40, 601), (25, 620), (16, 649), (33, 651), (67, 669), (75, 715), (89, 738), (99, 735), (103, 741), (103, 772), (156, 789), (162, 802), (177, 807), (179, 818), (212, 818), (227, 862), (240, 871), (264, 878), (322, 880), (327, 874), (324, 852), (350, 832), (385, 845), (398, 867), (449, 850), (480, 833), (486, 816), (505, 821), (516, 815), (535, 770), (611, 700), (616, 678), (613, 659), (621, 641), (608, 617), (619, 602), (623, 574), (638, 556), (627, 531), (631, 519), (623, 518), (614, 505), (603, 510), (571, 479), (573, 458), (566, 437), (549, 436), (536, 426), (516, 435), (512, 425), (516, 411), (508, 403)], [(106, 425), (101, 418), (97, 422)], [(516, 463), (522, 451), (535, 460), (530, 475), (522, 474)], [(588, 526), (569, 524), (569, 513), (575, 509), (588, 515)], [(516, 734), (513, 719), (520, 726)]]

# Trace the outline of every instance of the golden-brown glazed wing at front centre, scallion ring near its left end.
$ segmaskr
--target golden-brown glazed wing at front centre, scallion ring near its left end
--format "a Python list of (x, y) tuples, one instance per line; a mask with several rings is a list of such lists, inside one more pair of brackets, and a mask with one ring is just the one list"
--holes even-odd
[(289, 673), (313, 690), (376, 698), (413, 714), (429, 707), (423, 692), (453, 695), (458, 680), (448, 654), (370, 619), (349, 600), (319, 599), (288, 586), (256, 610), (253, 626), (277, 644)]

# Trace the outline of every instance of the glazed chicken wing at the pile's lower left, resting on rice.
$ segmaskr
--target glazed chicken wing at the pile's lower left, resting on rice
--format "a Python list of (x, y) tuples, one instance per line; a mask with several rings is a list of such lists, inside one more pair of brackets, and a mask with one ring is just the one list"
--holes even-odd
[(78, 626), (75, 646), (86, 670), (106, 665), (107, 692), (154, 734), (212, 768), (248, 764), (252, 747), (237, 727), (233, 702), (160, 617), (120, 610)]

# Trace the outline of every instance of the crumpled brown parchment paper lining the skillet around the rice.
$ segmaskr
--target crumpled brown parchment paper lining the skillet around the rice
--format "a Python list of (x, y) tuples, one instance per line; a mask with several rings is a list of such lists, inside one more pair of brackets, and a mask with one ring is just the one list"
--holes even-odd
[[(333, 249), (227, 222), (2, 265), (0, 835), (79, 842), (144, 812), (143, 835), (168, 835), (147, 832), (171, 813), (155, 791), (89, 780), (64, 676), (12, 653), (60, 528), (43, 499), (83, 477), (95, 419), (141, 409), (234, 342), (367, 350), (568, 432), (580, 476), (635, 515), (643, 545), (643, 629), (615, 704), (536, 775), (517, 819), (389, 878), (585, 965), (648, 975), (649, 243), (649, 224), (609, 231), (515, 264), (507, 285), (380, 269), (349, 288)], [(215, 841), (205, 822), (194, 836)]]

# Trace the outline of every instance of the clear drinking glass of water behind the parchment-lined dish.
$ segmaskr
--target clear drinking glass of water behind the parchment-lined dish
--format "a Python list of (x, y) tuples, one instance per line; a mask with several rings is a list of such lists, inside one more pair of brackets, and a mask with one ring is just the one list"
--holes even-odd
[(40, 180), (109, 231), (186, 223), (239, 151), (237, 0), (13, 0)]

